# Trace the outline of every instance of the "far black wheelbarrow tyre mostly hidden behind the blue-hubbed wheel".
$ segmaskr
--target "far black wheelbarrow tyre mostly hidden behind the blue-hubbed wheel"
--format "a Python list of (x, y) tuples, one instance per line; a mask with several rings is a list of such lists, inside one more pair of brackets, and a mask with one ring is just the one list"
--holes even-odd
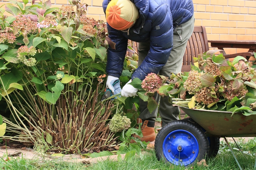
[[(204, 128), (201, 127), (192, 118), (187, 117), (183, 120), (191, 122), (191, 123), (195, 123), (195, 125), (198, 125), (198, 127), (200, 127), (204, 132), (206, 132), (206, 130), (204, 130)], [(220, 148), (220, 138), (216, 137), (216, 136), (207, 136), (207, 139), (208, 139), (208, 142), (209, 142), (209, 154), (207, 155), (207, 157), (208, 158), (214, 158), (218, 154), (218, 150)]]

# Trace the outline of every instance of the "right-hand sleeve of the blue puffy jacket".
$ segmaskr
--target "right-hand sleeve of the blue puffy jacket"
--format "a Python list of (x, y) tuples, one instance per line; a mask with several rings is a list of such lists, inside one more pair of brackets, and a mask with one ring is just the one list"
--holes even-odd
[(132, 79), (145, 79), (149, 73), (157, 74), (166, 64), (173, 47), (173, 22), (169, 6), (159, 6), (152, 16), (150, 49)]

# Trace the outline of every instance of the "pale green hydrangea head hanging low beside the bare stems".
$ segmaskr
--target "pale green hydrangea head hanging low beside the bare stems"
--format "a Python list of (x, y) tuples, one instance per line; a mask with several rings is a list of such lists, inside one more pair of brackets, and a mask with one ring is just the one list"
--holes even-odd
[(121, 116), (120, 114), (115, 114), (111, 121), (109, 122), (109, 129), (111, 132), (122, 132), (131, 126), (131, 120), (126, 116)]

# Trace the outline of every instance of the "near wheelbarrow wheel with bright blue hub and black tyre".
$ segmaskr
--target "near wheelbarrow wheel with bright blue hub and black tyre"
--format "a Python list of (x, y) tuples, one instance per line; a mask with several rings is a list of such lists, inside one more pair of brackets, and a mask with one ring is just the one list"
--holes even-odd
[(192, 122), (176, 120), (165, 125), (155, 140), (157, 159), (166, 163), (187, 166), (201, 161), (209, 153), (204, 131)]

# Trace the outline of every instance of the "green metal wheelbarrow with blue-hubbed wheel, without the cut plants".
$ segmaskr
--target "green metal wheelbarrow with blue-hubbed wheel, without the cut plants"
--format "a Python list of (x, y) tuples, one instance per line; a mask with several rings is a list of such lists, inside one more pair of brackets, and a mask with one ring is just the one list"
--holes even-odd
[[(180, 106), (179, 106), (180, 107)], [(157, 158), (175, 165), (195, 163), (217, 155), (220, 137), (255, 137), (256, 115), (180, 107), (189, 118), (169, 122), (157, 134)], [(234, 155), (232, 148), (230, 150)], [(236, 159), (240, 169), (241, 166)]]

